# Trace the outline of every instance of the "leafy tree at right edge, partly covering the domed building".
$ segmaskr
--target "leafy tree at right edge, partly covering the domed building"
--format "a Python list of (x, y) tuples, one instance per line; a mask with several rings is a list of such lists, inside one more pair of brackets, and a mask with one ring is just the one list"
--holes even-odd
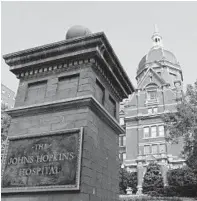
[(176, 109), (177, 112), (163, 116), (168, 131), (167, 140), (177, 142), (180, 137), (184, 139), (183, 153), (187, 164), (197, 171), (197, 80), (194, 86), (187, 85), (186, 93)]

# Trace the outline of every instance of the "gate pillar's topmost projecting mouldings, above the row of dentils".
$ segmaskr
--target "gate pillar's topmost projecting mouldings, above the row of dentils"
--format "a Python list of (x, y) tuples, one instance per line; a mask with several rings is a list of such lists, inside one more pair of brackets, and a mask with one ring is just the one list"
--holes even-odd
[[(97, 49), (103, 61), (110, 63), (109, 70), (111, 73), (113, 74), (113, 71), (116, 71), (116, 77), (121, 82), (121, 85), (124, 87), (127, 94), (132, 94), (135, 88), (123, 69), (104, 32), (98, 32), (87, 36), (71, 38), (9, 53), (4, 55), (3, 58), (10, 66), (10, 70), (16, 74), (17, 71), (21, 71), (27, 66), (39, 66), (40, 64), (43, 65), (52, 60), (56, 61), (64, 58), (66, 59), (69, 54), (72, 54), (74, 57), (74, 52), (77, 50), (79, 52), (81, 51), (81, 54), (83, 54), (84, 50), (90, 50), (88, 54), (91, 54), (91, 47)], [(104, 52), (106, 52), (106, 55), (103, 55), (102, 48)]]

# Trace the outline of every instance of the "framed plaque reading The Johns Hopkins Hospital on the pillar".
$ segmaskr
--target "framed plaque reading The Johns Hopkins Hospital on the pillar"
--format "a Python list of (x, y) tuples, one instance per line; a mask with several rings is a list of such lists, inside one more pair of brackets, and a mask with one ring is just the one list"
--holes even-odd
[(9, 137), (2, 192), (79, 190), (82, 128)]

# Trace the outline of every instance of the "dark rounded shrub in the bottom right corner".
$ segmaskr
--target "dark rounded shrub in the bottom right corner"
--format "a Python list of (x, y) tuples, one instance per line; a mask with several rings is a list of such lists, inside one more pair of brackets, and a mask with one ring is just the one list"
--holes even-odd
[(169, 186), (164, 191), (166, 196), (197, 196), (197, 176), (191, 168), (169, 170), (167, 179)]

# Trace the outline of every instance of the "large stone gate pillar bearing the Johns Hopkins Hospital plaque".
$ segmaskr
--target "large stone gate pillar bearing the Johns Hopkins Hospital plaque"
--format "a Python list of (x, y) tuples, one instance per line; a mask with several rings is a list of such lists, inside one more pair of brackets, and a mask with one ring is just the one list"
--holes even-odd
[(104, 33), (72, 34), (3, 57), (20, 80), (3, 201), (118, 200), (119, 102), (134, 88)]

